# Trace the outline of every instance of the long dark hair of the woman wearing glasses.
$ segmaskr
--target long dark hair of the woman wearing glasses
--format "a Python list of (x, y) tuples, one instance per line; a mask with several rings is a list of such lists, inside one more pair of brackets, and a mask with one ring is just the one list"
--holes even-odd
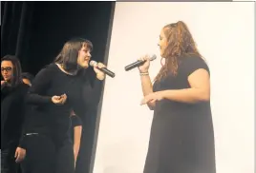
[(6, 55), (1, 58), (1, 63), (3, 61), (11, 61), (11, 64), (13, 66), (13, 78), (11, 79), (11, 87), (17, 87), (19, 84), (22, 83), (22, 68), (19, 59), (14, 55)]

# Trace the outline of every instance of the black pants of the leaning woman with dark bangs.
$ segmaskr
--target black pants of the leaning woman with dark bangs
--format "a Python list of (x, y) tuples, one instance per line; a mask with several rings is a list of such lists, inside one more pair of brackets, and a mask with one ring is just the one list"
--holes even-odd
[(75, 173), (73, 144), (69, 139), (55, 144), (49, 137), (32, 135), (26, 141), (22, 173)]

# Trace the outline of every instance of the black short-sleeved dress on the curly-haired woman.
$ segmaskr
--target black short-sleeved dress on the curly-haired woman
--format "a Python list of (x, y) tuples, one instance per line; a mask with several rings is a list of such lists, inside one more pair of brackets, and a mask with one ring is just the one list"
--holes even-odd
[[(189, 88), (187, 77), (209, 69), (199, 57), (184, 58), (178, 75), (167, 75), (154, 91)], [(156, 103), (144, 173), (215, 173), (214, 132), (210, 102)]]

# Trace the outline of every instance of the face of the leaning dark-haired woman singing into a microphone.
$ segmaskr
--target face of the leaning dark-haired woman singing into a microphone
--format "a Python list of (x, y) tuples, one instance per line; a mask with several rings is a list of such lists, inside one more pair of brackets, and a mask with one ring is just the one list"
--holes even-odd
[(80, 67), (87, 68), (89, 67), (89, 61), (91, 57), (91, 49), (85, 45), (78, 52), (77, 64)]

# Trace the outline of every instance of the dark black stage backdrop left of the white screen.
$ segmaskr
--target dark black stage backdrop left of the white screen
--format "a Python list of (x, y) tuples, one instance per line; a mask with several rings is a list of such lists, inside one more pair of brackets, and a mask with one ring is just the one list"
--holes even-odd
[[(114, 9), (115, 2), (1, 2), (1, 57), (18, 56), (23, 71), (35, 75), (66, 41), (83, 37), (94, 44), (92, 59), (107, 64)], [(94, 158), (98, 107), (83, 120), (77, 173), (89, 172)]]

